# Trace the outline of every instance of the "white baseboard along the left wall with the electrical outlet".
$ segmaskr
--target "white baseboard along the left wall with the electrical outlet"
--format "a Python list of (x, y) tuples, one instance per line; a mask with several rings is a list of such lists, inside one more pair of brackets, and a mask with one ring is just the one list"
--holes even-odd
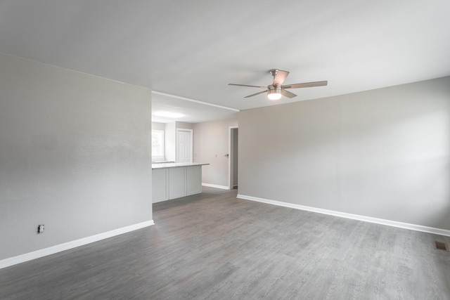
[(65, 242), (64, 244), (57, 244), (52, 247), (48, 247), (45, 249), (40, 249), (34, 252), (29, 252), (25, 254), (21, 254), (18, 256), (13, 256), (9, 259), (3, 259), (0, 261), (0, 269), (6, 268), (8, 266), (13, 266), (18, 263), (23, 263), (25, 261), (31, 261), (32, 259), (39, 259), (39, 257), (47, 256), (50, 254), (55, 254), (57, 252), (62, 252), (68, 249), (72, 249), (75, 247), (82, 246), (84, 244), (89, 244), (91, 242), (98, 242), (99, 240), (104, 240), (108, 237), (113, 237), (115, 235), (121, 235), (122, 233), (129, 233), (130, 231), (138, 230), (144, 227), (152, 226), (155, 223), (153, 220), (137, 223), (131, 226), (126, 226), (122, 228), (117, 228), (115, 230), (110, 230), (106, 233), (100, 233), (98, 235), (91, 235), (90, 237), (83, 237), (79, 240), (74, 240), (71, 242)]

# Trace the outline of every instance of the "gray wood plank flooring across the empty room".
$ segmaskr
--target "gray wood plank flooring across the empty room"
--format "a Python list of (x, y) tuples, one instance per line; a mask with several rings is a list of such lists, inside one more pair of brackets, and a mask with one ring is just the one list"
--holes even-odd
[(449, 237), (236, 198), (154, 204), (155, 226), (0, 270), (0, 299), (450, 299)]

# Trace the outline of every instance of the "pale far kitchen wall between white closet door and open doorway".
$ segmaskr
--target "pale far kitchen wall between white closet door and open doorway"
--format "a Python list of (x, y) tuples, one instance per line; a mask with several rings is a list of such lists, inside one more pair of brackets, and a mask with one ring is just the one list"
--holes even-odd
[(196, 123), (194, 134), (194, 162), (205, 162), (203, 166), (202, 182), (228, 188), (228, 157), (229, 127), (238, 126), (238, 119), (225, 119), (215, 122)]

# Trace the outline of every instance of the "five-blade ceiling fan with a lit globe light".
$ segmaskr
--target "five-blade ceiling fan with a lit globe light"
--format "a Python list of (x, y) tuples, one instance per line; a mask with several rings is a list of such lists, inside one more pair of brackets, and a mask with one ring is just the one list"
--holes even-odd
[(272, 82), (272, 84), (270, 84), (269, 86), (250, 86), (248, 84), (229, 84), (229, 86), (250, 86), (252, 88), (259, 88), (265, 90), (260, 91), (258, 93), (253, 93), (252, 95), (249, 96), (245, 96), (244, 98), (257, 96), (260, 93), (267, 92), (267, 98), (269, 98), (270, 100), (278, 100), (281, 98), (282, 95), (288, 98), (294, 98), (295, 96), (297, 96), (295, 95), (295, 93), (286, 91), (287, 89), (311, 88), (314, 86), (326, 86), (328, 84), (328, 81), (314, 81), (314, 82), (304, 82), (302, 84), (286, 84), (285, 86), (283, 86), (282, 84), (285, 81), (286, 77), (288, 77), (289, 72), (278, 69), (272, 69), (269, 72), (274, 77), (274, 82)]

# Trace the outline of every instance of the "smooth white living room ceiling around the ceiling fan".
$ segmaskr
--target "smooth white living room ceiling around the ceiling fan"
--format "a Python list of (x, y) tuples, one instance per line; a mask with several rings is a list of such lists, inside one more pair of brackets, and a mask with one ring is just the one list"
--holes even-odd
[[(449, 0), (0, 0), (0, 52), (146, 86), (155, 105), (245, 110), (449, 76), (449, 11)], [(285, 84), (328, 86), (273, 102), (227, 85), (266, 86), (272, 68), (290, 71)]]

